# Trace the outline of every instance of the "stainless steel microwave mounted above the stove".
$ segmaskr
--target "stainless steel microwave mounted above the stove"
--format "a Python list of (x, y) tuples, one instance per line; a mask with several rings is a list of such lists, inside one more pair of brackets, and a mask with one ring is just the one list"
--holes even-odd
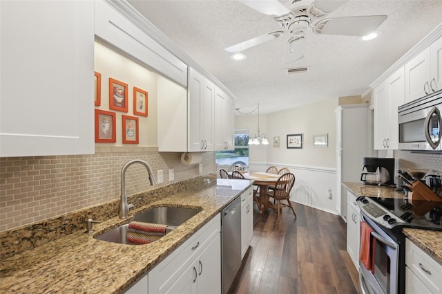
[(399, 149), (442, 152), (442, 90), (398, 107)]

